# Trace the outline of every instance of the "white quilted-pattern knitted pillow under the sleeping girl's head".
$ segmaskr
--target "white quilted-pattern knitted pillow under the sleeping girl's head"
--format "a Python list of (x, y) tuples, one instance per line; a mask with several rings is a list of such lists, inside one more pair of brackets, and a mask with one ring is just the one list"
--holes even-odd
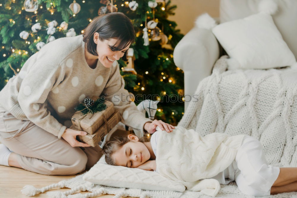
[(186, 187), (181, 183), (170, 180), (153, 171), (108, 165), (105, 162), (105, 155), (86, 172), (83, 180), (94, 184), (119, 188), (179, 192), (186, 190)]

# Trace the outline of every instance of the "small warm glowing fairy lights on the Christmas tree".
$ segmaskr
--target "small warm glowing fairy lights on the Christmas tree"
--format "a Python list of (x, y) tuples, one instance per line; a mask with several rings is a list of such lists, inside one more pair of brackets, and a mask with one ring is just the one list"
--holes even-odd
[[(125, 0), (121, 0), (121, 1), (124, 1), (124, 2), (118, 2), (118, 4), (120, 4), (120, 6), (121, 7), (129, 7), (129, 1), (125, 1)], [(12, 0), (12, 2), (14, 3), (15, 2), (15, 0)], [(74, 3), (76, 2), (75, 0), (73, 1)], [(86, 3), (86, 0), (83, 0), (83, 1), (81, 1), (82, 3)], [(114, 1), (114, 2), (116, 2), (116, 1)], [(51, 7), (48, 7), (48, 8), (46, 8), (49, 12), (50, 12), (50, 14), (51, 15), (53, 15), (54, 13), (55, 13), (55, 8), (54, 8), (54, 5), (53, 5), (53, 2), (51, 2), (50, 3), (50, 5), (51, 5)], [(113, 4), (115, 7), (117, 7), (118, 5), (117, 4)], [(2, 5), (2, 3), (0, 3), (0, 7), (2, 7), (3, 5)], [(39, 6), (40, 7), (40, 9), (42, 9), (43, 8), (43, 6), (42, 5), (40, 5)], [(8, 10), (11, 10), (11, 7), (7, 7), (7, 9)], [(25, 9), (25, 7), (22, 7), (21, 8), (21, 10), (18, 12), (18, 14), (21, 14), (22, 13), (22, 10), (24, 10)], [(165, 11), (165, 7), (161, 7), (161, 10), (162, 11)], [(79, 11), (78, 11), (79, 12)], [(38, 18), (37, 18), (37, 14), (38, 14), (38, 11), (36, 10), (36, 11), (34, 11), (33, 12), (34, 13), (34, 15), (32, 15), (31, 16), (31, 18), (34, 18), (34, 17), (36, 17), (35, 18), (35, 22), (38, 22)], [(149, 14), (149, 13), (152, 13), (152, 11), (147, 11), (146, 12), (147, 14)], [(73, 13), (73, 15), (72, 15), (72, 17), (75, 17), (77, 15), (77, 13)], [(26, 19), (27, 19), (27, 21), (30, 21), (30, 18), (27, 18), (26, 17)], [(147, 19), (150, 19), (150, 17), (149, 16), (147, 16)], [(89, 22), (91, 22), (92, 21), (92, 19), (91, 18), (89, 18), (89, 19), (87, 19)], [(9, 19), (9, 21), (10, 21), (10, 23), (13, 23), (13, 24), (15, 24), (15, 21), (13, 20), (13, 19)], [(154, 18), (154, 21), (156, 21), (156, 22), (158, 22), (158, 19), (157, 18)], [(33, 22), (33, 20), (31, 21), (31, 22)], [(33, 25), (33, 23), (31, 23), (31, 25)], [(140, 24), (140, 27), (143, 27), (143, 25), (144, 24)], [(146, 26), (146, 24), (145, 24), (145, 26)], [(169, 26), (172, 26), (171, 24), (169, 24)], [(63, 28), (62, 27), (60, 27), (60, 26), (57, 26), (57, 28), (56, 29), (58, 29), (58, 31), (62, 31), (63, 30)], [(45, 30), (45, 29), (44, 29)], [(160, 30), (160, 32), (161, 32), (161, 30)], [(82, 30), (81, 31), (81, 33), (84, 33), (84, 31)], [(140, 36), (140, 34), (142, 33), (142, 31), (139, 31), (139, 32), (137, 32), (136, 33), (136, 37), (139, 37)], [(150, 33), (151, 33), (151, 30), (149, 29), (148, 30), (148, 34), (150, 35)], [(35, 32), (30, 32), (29, 33), (32, 37), (35, 35), (35, 36), (37, 36), (37, 34), (35, 33)], [(51, 36), (51, 35), (50, 35)], [(49, 37), (50, 37), (49, 36)], [(168, 40), (171, 40), (172, 39), (172, 35), (168, 35)], [(36, 43), (36, 42), (39, 42), (41, 40), (41, 38), (39, 37), (39, 36), (37, 36), (37, 39), (34, 39), (34, 43)], [(151, 38), (149, 38), (149, 41), (151, 41)], [(31, 43), (30, 43), (30, 41), (24, 41), (26, 44), (28, 44), (28, 45), (30, 45)], [(2, 46), (2, 49), (4, 49), (5, 47), (4, 46)], [(28, 51), (26, 51), (26, 50), (16, 50), (16, 49), (14, 49), (14, 48), (12, 48), (11, 47), (11, 52), (12, 53), (15, 53), (15, 54), (18, 54), (18, 55), (27, 55), (28, 54)], [(4, 57), (6, 57), (6, 56), (8, 56), (9, 54), (3, 54), (3, 56)], [(170, 55), (170, 58), (173, 58), (173, 55), (171, 54)], [(160, 58), (158, 58), (159, 60), (160, 60)], [(163, 62), (165, 62), (165, 61), (169, 61), (169, 58), (168, 57), (166, 57), (164, 60), (163, 60)], [(11, 67), (11, 69), (13, 70), (13, 68)], [(124, 69), (124, 67), (121, 67), (121, 69), (123, 70)], [(179, 67), (176, 67), (176, 70), (180, 70), (180, 68)], [(13, 70), (14, 72), (15, 72), (15, 70)], [(20, 71), (20, 69), (19, 68), (17, 68), (17, 70), (16, 70), (17, 72), (19, 72)], [(149, 71), (146, 71), (145, 72), (145, 74), (146, 75), (148, 75), (149, 74)], [(162, 75), (162, 78), (160, 79), (160, 81), (162, 82), (162, 81), (164, 81), (166, 78), (168, 78), (168, 76), (166, 76), (163, 72), (161, 73), (161, 75)], [(6, 82), (8, 82), (8, 80), (5, 80)], [(168, 82), (169, 83), (175, 83), (175, 80), (172, 78), (172, 77), (169, 77), (168, 78)], [(140, 82), (138, 83), (138, 87), (140, 88), (140, 90), (142, 90), (142, 91), (144, 91), (145, 90), (145, 86), (140, 86)], [(137, 87), (136, 87), (136, 89), (138, 89)], [(164, 91), (164, 92), (161, 92), (163, 95), (166, 95), (166, 92)], [(180, 92), (179, 92), (180, 93)], [(157, 100), (160, 100), (160, 97), (157, 97)], [(185, 98), (183, 97), (182, 98), (182, 100), (184, 101), (185, 100)], [(163, 109), (157, 109), (157, 111), (159, 111), (159, 112), (161, 112), (161, 111), (163, 111)], [(172, 115), (174, 115), (175, 114), (175, 112), (172, 112)], [(182, 112), (182, 114), (184, 114), (184, 112)]]

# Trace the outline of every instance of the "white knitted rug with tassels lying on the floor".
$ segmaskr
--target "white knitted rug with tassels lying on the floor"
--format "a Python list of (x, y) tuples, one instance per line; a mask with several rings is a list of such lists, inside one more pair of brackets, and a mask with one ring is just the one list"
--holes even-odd
[[(140, 197), (140, 198), (206, 198), (210, 197), (200, 192), (184, 191), (184, 192), (174, 192), (174, 191), (148, 191), (136, 188), (116, 188), (109, 186), (102, 186), (93, 184), (88, 181), (83, 180), (83, 173), (69, 180), (62, 180), (59, 183), (52, 184), (50, 186), (45, 186), (43, 188), (35, 188), (33, 186), (24, 186), (21, 190), (22, 194), (32, 197), (39, 193), (44, 193), (51, 188), (70, 188), (69, 191), (51, 191), (46, 194), (48, 197), (52, 198), (87, 198), (87, 197), (97, 197), (101, 194), (113, 194), (114, 198), (120, 197)], [(79, 193), (78, 191), (89, 191), (89, 193)], [(76, 193), (78, 192), (78, 193)], [(74, 194), (75, 193), (75, 194)], [(296, 197), (296, 193), (282, 193), (277, 195), (267, 196), (266, 198), (284, 198), (284, 197)], [(100, 196), (99, 196), (100, 197)], [(242, 194), (235, 182), (230, 182), (228, 185), (221, 185), (221, 189), (216, 197), (230, 197), (230, 198), (254, 198), (254, 196), (247, 196)]]

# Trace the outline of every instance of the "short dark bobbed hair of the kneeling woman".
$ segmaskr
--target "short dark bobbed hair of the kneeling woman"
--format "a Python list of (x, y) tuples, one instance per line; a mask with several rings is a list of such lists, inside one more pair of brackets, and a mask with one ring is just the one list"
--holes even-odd
[[(135, 41), (134, 27), (130, 19), (122, 12), (111, 12), (97, 16), (84, 29), (83, 42), (86, 43), (88, 52), (98, 56), (96, 51), (97, 45), (93, 39), (95, 32), (99, 33), (99, 39), (101, 41), (111, 38), (117, 39), (116, 43), (110, 46), (112, 51), (121, 51)], [(127, 61), (127, 51), (122, 59)]]

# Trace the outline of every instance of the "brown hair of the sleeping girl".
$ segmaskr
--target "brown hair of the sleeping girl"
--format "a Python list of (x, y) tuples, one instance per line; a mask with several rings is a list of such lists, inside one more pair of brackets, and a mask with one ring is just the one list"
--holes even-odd
[[(151, 134), (145, 135), (139, 138), (139, 142), (149, 142), (151, 140)], [(112, 158), (115, 151), (119, 150), (124, 144), (130, 142), (127, 136), (115, 136), (107, 141), (103, 146), (103, 153), (105, 155), (105, 161), (109, 165), (118, 166)]]

